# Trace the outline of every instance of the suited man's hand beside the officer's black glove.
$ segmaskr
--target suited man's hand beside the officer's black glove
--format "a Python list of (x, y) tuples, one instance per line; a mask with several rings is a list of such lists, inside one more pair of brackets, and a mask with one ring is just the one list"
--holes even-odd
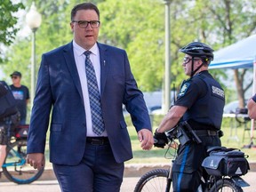
[(138, 132), (138, 139), (140, 140), (140, 147), (143, 150), (149, 150), (154, 144), (153, 134), (148, 129), (142, 129)]

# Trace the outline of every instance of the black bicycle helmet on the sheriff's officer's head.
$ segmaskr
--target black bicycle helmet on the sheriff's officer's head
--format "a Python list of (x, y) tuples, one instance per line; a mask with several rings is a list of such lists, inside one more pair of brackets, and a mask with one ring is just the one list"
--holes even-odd
[(182, 47), (180, 52), (184, 52), (192, 57), (199, 57), (208, 63), (208, 60), (213, 60), (214, 50), (207, 44), (200, 42), (192, 42)]

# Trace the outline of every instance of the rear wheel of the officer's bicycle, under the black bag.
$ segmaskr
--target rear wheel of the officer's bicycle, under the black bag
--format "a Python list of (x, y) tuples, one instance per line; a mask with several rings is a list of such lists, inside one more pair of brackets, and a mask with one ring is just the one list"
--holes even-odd
[(212, 186), (210, 189), (210, 192), (216, 192), (216, 191), (222, 191), (222, 192), (243, 192), (243, 189), (239, 186), (236, 186), (235, 182), (230, 179), (220, 179), (217, 180), (216, 184)]

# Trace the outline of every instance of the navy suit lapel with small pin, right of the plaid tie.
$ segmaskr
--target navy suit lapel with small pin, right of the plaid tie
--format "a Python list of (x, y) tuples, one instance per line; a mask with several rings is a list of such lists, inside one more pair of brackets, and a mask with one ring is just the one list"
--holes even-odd
[(106, 55), (106, 46), (100, 43), (97, 44), (100, 50), (100, 97), (102, 97), (108, 76), (108, 69), (110, 66), (108, 62), (108, 57)]

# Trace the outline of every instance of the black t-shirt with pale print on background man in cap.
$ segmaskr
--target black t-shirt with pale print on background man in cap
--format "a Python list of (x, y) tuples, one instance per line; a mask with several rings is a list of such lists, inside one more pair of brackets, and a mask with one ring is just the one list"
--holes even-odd
[(20, 111), (20, 119), (26, 118), (27, 100), (29, 100), (28, 87), (24, 85), (15, 87), (13, 84), (10, 85), (10, 87), (15, 100), (17, 100), (17, 108)]

